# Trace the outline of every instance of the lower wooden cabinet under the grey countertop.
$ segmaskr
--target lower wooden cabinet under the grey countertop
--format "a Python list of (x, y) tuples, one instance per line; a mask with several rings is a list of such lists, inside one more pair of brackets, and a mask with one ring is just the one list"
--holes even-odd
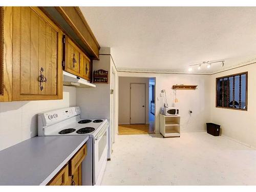
[(87, 155), (87, 144), (66, 164), (47, 185), (82, 185), (82, 160)]

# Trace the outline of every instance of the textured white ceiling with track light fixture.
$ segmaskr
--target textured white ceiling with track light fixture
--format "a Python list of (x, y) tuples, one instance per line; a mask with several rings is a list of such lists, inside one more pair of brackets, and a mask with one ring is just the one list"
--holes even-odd
[[(255, 61), (256, 7), (80, 7), (119, 70), (211, 74)], [(225, 60), (188, 72), (188, 65)]]

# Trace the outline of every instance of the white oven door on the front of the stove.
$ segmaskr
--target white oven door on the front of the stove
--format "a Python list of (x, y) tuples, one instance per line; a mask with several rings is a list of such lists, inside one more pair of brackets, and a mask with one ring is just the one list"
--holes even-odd
[(108, 127), (109, 122), (102, 127), (101, 131), (95, 137), (94, 181), (96, 185), (100, 185), (106, 166), (106, 161), (108, 160)]

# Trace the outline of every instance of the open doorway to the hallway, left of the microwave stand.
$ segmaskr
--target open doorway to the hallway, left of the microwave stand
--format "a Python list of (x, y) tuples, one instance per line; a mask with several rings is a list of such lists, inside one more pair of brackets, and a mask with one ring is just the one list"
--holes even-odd
[(150, 91), (150, 79), (119, 77), (118, 135), (155, 133), (155, 114), (151, 113), (154, 111), (155, 89)]

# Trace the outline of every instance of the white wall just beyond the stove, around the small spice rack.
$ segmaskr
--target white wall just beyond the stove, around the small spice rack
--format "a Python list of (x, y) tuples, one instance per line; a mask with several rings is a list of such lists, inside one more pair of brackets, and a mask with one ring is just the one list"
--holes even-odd
[[(112, 124), (112, 120), (115, 120), (115, 126), (109, 129), (110, 140), (109, 143), (112, 148), (112, 143), (115, 138), (112, 137), (111, 130), (117, 130), (117, 118), (112, 118), (111, 107), (112, 98), (110, 90), (112, 89), (112, 70), (116, 73), (114, 63), (111, 59), (110, 48), (101, 48), (99, 58), (100, 60), (93, 61), (93, 71), (103, 69), (109, 73), (108, 84), (96, 84), (96, 88), (77, 88), (76, 90), (76, 104), (81, 108), (82, 118), (106, 118)], [(103, 55), (107, 54), (107, 55)], [(117, 99), (118, 90), (118, 76), (115, 76), (116, 90), (114, 90), (115, 98)], [(117, 106), (115, 106), (117, 109)], [(109, 150), (108, 158), (111, 158), (111, 150)]]

